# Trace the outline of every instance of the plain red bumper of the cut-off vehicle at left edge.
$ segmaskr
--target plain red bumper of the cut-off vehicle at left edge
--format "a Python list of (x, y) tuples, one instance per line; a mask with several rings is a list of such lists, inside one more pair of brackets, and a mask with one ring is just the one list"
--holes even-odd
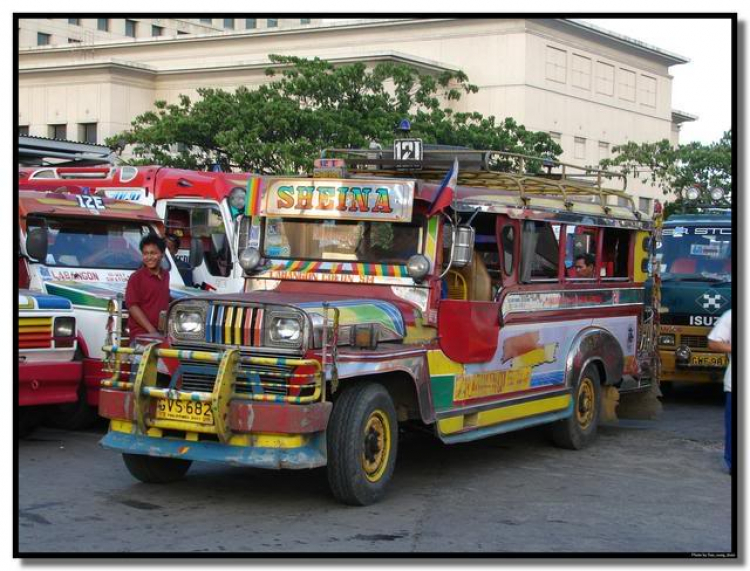
[(21, 362), (18, 364), (18, 404), (37, 406), (76, 402), (82, 374), (82, 365), (78, 361)]

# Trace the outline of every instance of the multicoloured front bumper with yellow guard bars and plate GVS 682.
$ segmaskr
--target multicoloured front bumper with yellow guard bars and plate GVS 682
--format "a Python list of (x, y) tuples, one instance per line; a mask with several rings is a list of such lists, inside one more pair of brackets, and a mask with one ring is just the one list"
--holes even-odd
[[(156, 344), (105, 351), (116, 362), (111, 366), (114, 375), (102, 382), (99, 394), (99, 414), (111, 420), (100, 442), (104, 448), (256, 468), (326, 464), (325, 429), (332, 405), (322, 399), (318, 361), (249, 357), (237, 350), (181, 351)], [(203, 392), (181, 391), (175, 373), (165, 386), (157, 364), (169, 359), (178, 364), (176, 370), (200, 364), (215, 380)], [(127, 367), (120, 360), (127, 361)], [(291, 369), (269, 373), (272, 365)], [(261, 377), (268, 374), (275, 376)], [(285, 393), (279, 394), (280, 389)], [(174, 416), (173, 409), (180, 413)]]

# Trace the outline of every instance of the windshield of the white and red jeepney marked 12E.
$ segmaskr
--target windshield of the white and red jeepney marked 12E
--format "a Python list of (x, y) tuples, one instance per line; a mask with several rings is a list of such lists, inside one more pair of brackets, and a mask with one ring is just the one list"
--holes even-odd
[[(92, 218), (47, 218), (46, 264), (64, 268), (135, 270), (141, 265), (138, 249), (149, 227), (137, 222)], [(29, 221), (29, 228), (36, 222)]]

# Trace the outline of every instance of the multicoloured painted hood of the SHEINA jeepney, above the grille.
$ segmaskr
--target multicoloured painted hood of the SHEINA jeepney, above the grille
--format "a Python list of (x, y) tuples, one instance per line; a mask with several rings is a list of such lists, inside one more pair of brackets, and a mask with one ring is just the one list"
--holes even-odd
[[(212, 295), (209, 301), (291, 305), (309, 315), (316, 314), (321, 317), (325, 314), (323, 304), (327, 303), (329, 308), (339, 310), (339, 325), (342, 327), (373, 323), (379, 326), (381, 340), (403, 339), (406, 335), (402, 310), (395, 303), (382, 299), (255, 291), (241, 294)], [(331, 317), (330, 314), (329, 317)]]

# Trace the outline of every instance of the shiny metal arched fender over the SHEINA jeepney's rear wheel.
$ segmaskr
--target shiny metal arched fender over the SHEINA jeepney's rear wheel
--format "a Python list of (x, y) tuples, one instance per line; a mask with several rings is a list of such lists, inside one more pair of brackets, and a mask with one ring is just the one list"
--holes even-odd
[(604, 385), (614, 385), (622, 378), (625, 357), (617, 339), (601, 327), (581, 330), (570, 345), (565, 361), (565, 384), (575, 386), (581, 372), (590, 363), (599, 363), (604, 369)]

